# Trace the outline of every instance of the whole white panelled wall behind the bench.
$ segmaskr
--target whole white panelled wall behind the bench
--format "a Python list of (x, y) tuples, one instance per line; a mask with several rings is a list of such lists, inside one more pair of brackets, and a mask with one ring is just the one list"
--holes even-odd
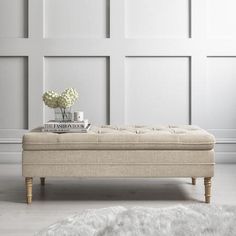
[(94, 124), (196, 124), (236, 161), (235, 0), (1, 0), (0, 163), (76, 87)]

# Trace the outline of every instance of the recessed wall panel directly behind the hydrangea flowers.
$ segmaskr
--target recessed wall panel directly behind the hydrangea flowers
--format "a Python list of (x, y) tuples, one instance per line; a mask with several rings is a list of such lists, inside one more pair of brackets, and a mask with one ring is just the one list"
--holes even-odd
[[(93, 124), (109, 123), (109, 65), (106, 57), (46, 57), (45, 90), (61, 93), (76, 88), (79, 100), (73, 110), (84, 111)], [(45, 108), (45, 120), (53, 119), (53, 110)]]

